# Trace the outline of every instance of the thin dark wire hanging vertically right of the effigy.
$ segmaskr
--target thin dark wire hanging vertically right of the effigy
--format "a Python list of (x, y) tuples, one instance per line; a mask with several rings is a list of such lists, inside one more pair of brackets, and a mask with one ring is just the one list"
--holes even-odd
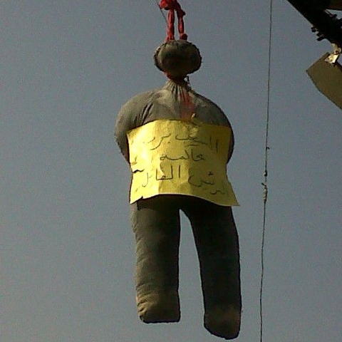
[(265, 168), (264, 168), (264, 214), (262, 225), (261, 240), (261, 279), (260, 279), (260, 342), (263, 339), (264, 319), (263, 319), (263, 291), (264, 291), (264, 247), (265, 247), (265, 231), (266, 231), (266, 203), (269, 188), (267, 186), (268, 163), (269, 163), (269, 103), (270, 103), (270, 85), (271, 85), (271, 46), (272, 46), (272, 19), (273, 19), (273, 0), (269, 4), (269, 61), (267, 74), (267, 110), (266, 110), (266, 137), (265, 137)]

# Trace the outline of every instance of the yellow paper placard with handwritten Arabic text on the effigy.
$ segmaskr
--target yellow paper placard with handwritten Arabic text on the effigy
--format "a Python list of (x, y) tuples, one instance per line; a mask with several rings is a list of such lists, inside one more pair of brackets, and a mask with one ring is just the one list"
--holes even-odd
[(133, 172), (130, 203), (178, 194), (239, 205), (227, 178), (229, 127), (198, 120), (155, 120), (127, 136)]

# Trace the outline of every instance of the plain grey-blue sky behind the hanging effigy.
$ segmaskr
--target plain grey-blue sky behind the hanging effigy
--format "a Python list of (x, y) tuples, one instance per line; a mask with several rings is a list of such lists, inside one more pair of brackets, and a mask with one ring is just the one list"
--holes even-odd
[[(259, 341), (269, 1), (182, 0), (203, 58), (192, 88), (234, 128), (243, 316)], [(0, 336), (4, 342), (214, 342), (182, 217), (177, 324), (135, 308), (130, 172), (113, 138), (121, 105), (165, 83), (154, 0), (0, 4)], [(264, 342), (340, 342), (342, 113), (306, 68), (331, 51), (274, 0)], [(223, 340), (222, 340), (223, 341)]]

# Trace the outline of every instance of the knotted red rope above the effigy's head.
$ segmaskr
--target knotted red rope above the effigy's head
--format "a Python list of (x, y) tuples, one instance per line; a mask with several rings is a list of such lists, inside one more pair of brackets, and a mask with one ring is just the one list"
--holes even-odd
[(166, 9), (169, 11), (167, 17), (167, 36), (166, 41), (175, 40), (175, 11), (177, 12), (178, 19), (178, 32), (180, 33), (180, 39), (186, 41), (187, 33), (184, 31), (184, 20), (185, 11), (182, 10), (177, 0), (161, 0), (160, 9)]

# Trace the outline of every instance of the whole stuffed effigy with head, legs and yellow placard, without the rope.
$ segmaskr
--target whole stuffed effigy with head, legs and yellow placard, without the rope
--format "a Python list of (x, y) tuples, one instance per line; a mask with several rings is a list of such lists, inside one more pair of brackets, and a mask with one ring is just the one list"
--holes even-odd
[(187, 41), (167, 41), (155, 64), (165, 86), (135, 95), (120, 109), (115, 138), (130, 163), (136, 301), (145, 323), (180, 320), (180, 210), (190, 220), (199, 257), (204, 326), (236, 338), (241, 317), (238, 205), (226, 174), (234, 136), (229, 120), (185, 81), (201, 63)]

